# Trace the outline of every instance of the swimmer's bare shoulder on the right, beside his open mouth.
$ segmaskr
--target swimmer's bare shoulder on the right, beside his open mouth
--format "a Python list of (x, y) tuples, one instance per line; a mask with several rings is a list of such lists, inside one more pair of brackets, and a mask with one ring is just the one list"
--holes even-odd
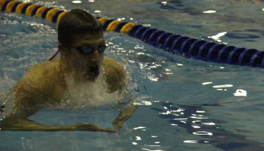
[(111, 92), (122, 90), (127, 85), (127, 77), (124, 67), (114, 59), (104, 56), (102, 62), (106, 82)]

